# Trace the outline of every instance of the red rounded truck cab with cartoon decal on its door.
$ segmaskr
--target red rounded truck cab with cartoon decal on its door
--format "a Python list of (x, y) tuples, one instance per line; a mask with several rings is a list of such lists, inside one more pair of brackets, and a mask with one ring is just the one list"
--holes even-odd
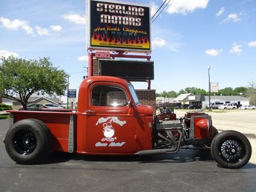
[(80, 86), (78, 153), (126, 153), (152, 148), (152, 107), (140, 105), (133, 85), (95, 76)]

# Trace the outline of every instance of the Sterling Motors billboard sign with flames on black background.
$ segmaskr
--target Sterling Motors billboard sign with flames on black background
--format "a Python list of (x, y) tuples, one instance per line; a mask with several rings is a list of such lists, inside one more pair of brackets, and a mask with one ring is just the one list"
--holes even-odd
[(104, 0), (87, 5), (87, 49), (151, 52), (149, 7)]

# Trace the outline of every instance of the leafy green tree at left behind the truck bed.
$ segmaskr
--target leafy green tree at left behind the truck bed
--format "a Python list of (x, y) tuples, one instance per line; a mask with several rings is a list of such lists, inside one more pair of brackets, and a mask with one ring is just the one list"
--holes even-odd
[[(64, 95), (68, 74), (53, 67), (49, 58), (24, 60), (13, 56), (0, 59), (0, 95), (22, 104), (27, 110), (33, 93)], [(19, 98), (15, 95), (19, 94)]]

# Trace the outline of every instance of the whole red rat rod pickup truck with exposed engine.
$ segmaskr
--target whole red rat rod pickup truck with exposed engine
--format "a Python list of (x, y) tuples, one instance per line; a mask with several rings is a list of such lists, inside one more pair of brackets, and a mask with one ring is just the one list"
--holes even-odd
[(251, 157), (249, 140), (237, 131), (217, 132), (202, 112), (176, 118), (173, 110), (140, 105), (133, 85), (111, 76), (92, 76), (80, 85), (78, 109), (8, 111), (4, 143), (19, 164), (33, 164), (50, 150), (86, 155), (148, 155), (179, 149), (208, 149), (225, 168)]

